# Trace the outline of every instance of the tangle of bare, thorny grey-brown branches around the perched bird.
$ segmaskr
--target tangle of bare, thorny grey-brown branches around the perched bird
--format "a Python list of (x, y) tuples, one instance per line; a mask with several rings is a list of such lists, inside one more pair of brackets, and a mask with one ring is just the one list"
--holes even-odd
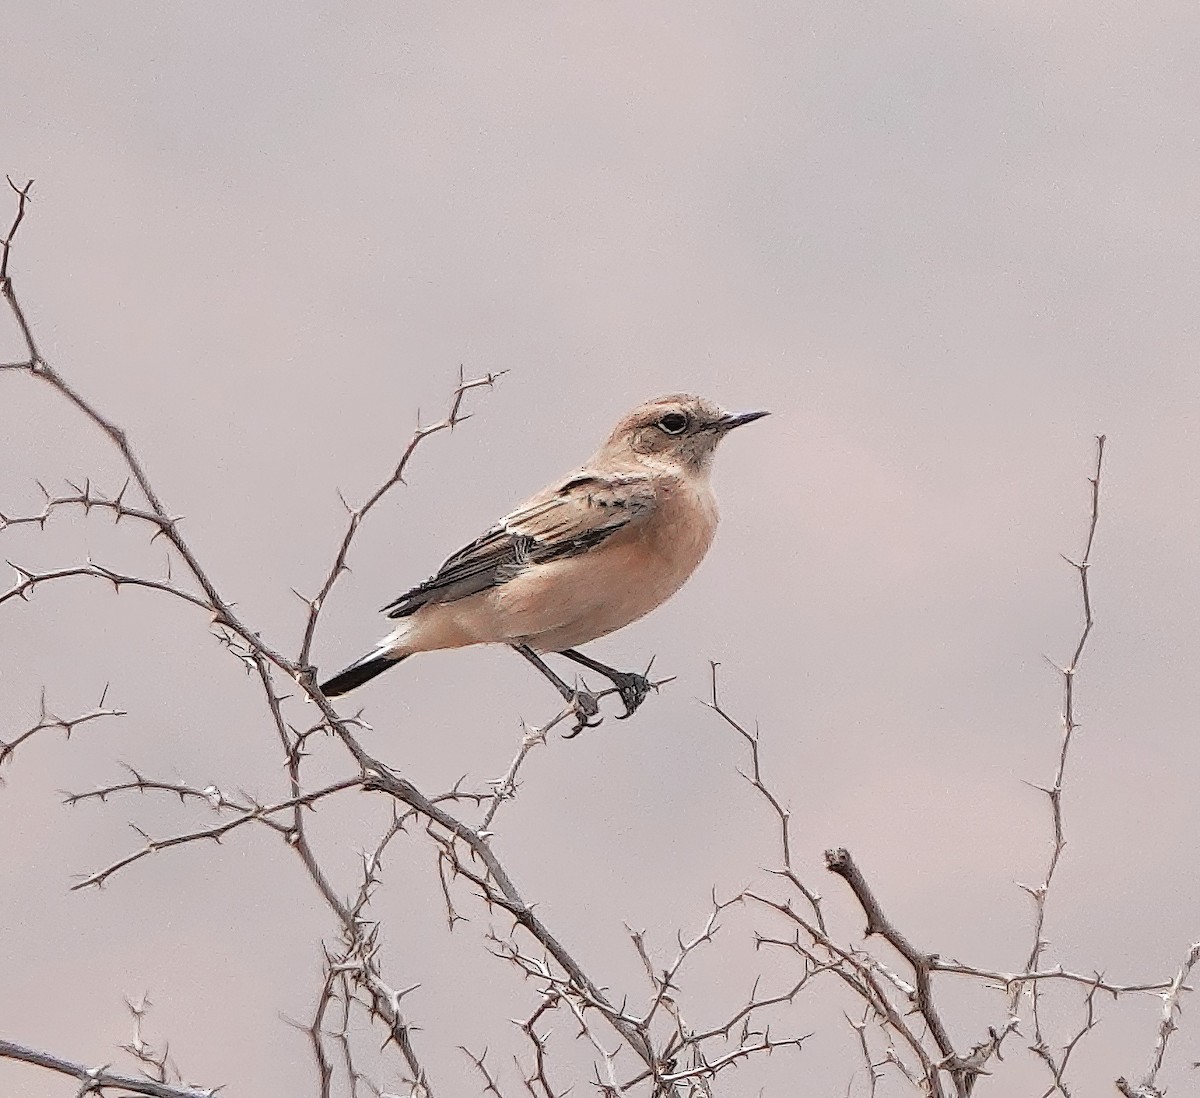
[[(118, 870), (150, 853), (204, 839), (220, 841), (227, 833), (251, 823), (260, 823), (284, 838), (288, 846), (295, 851), (313, 887), (334, 913), (338, 926), (337, 941), (325, 943), (322, 984), (316, 996), (312, 1021), (304, 1027), (317, 1066), (318, 1093), (323, 1098), (337, 1092), (335, 1075), (338, 1072), (344, 1076), (343, 1086), (352, 1098), (356, 1098), (360, 1088), (380, 1093), (355, 1064), (350, 1036), (352, 1020), (358, 1016), (382, 1027), (385, 1034), (384, 1046), (394, 1045), (398, 1050), (403, 1070), (407, 1073), (409, 1093), (418, 1098), (431, 1098), (433, 1094), (428, 1073), (413, 1042), (415, 1027), (402, 1009), (404, 1000), (416, 990), (416, 985), (403, 986), (384, 978), (383, 928), (370, 916), (372, 898), (383, 881), (384, 853), (396, 836), (404, 833), (409, 821), (419, 821), (424, 826), (424, 834), (434, 842), (451, 929), (456, 922), (464, 918), (454, 905), (454, 889), (463, 882), (490, 911), (506, 912), (512, 919), (510, 937), (508, 940), (492, 937), (491, 941), (497, 955), (514, 964), (538, 988), (539, 1006), (526, 1020), (517, 1022), (533, 1050), (532, 1064), (517, 1066), (521, 1072), (521, 1084), (524, 1091), (535, 1098), (560, 1098), (581, 1081), (570, 1080), (566, 1085), (559, 1086), (551, 1080), (548, 1049), (552, 1031), (547, 1021), (556, 1013), (560, 1018), (569, 1018), (578, 1037), (586, 1039), (594, 1049), (593, 1062), (596, 1074), (593, 1084), (600, 1093), (606, 1096), (625, 1093), (646, 1085), (654, 1098), (659, 1096), (682, 1098), (684, 1094), (712, 1096), (714, 1093), (712, 1080), (725, 1068), (774, 1049), (802, 1045), (806, 1038), (773, 1037), (769, 1027), (757, 1019), (772, 1008), (792, 1004), (818, 977), (822, 980), (827, 977), (835, 978), (864, 1007), (860, 1021), (852, 1021), (848, 1018), (847, 1021), (854, 1033), (856, 1057), (862, 1060), (868, 1070), (871, 1094), (875, 1093), (878, 1079), (886, 1073), (895, 1073), (914, 1090), (930, 1098), (944, 1098), (947, 1093), (944, 1076), (948, 1076), (956, 1098), (966, 1098), (972, 1093), (978, 1078), (994, 1070), (991, 1062), (1001, 1060), (1004, 1039), (1010, 1033), (1019, 1032), (1020, 1007), (1024, 1000), (1028, 998), (1032, 1003), (1034, 1031), (1031, 1049), (1051, 1073), (1052, 1082), (1046, 1093), (1057, 1092), (1066, 1098), (1069, 1094), (1064, 1078), (1067, 1066), (1082, 1037), (1096, 1024), (1094, 1007), (1099, 992), (1114, 996), (1157, 994), (1162, 997), (1163, 1019), (1147, 1073), (1136, 1085), (1122, 1078), (1117, 1080), (1116, 1086), (1126, 1098), (1158, 1098), (1163, 1093), (1158, 1088), (1157, 1076), (1170, 1037), (1177, 1027), (1176, 1019), (1182, 995), (1190, 990), (1187, 979), (1200, 959), (1200, 943), (1192, 947), (1176, 976), (1163, 982), (1116, 983), (1100, 974), (1087, 976), (1066, 971), (1061, 966), (1046, 967), (1043, 964), (1046, 948), (1044, 938), (1046, 898), (1066, 845), (1062, 797), (1068, 756), (1074, 733), (1079, 728), (1074, 683), (1093, 626), (1088, 569), (1099, 518), (1103, 436), (1098, 439), (1094, 474), (1090, 479), (1092, 509), (1087, 541), (1081, 558), (1078, 562), (1068, 562), (1080, 580), (1084, 625), (1069, 662), (1066, 667), (1058, 668), (1063, 679), (1063, 737), (1054, 782), (1043, 788), (1051, 805), (1054, 847), (1042, 883), (1027, 889), (1034, 900), (1034, 932), (1024, 968), (1018, 972), (1004, 972), (973, 967), (959, 961), (943, 961), (935, 953), (918, 949), (907, 935), (888, 920), (862, 871), (844, 850), (827, 853), (827, 868), (845, 880), (850, 887), (859, 908), (866, 916), (868, 936), (877, 935), (886, 940), (911, 970), (911, 977), (892, 971), (864, 949), (835, 941), (826, 923), (821, 896), (804, 880), (799, 868), (791, 810), (768, 785), (760, 732), (757, 728), (751, 732), (724, 708), (718, 694), (714, 664), (712, 698), (708, 706), (749, 749), (749, 766), (740, 773), (767, 805), (775, 821), (776, 853), (768, 872), (774, 884), (786, 890), (786, 895), (780, 898), (751, 888), (725, 901), (718, 901), (714, 895), (713, 907), (700, 932), (690, 938), (680, 936), (677, 952), (662, 966), (653, 960), (644, 932), (630, 930), (634, 948), (650, 984), (648, 1000), (641, 1008), (635, 1009), (625, 998), (619, 998), (599, 984), (551, 931), (541, 916), (535, 913), (533, 905), (527, 902), (517, 888), (491, 841), (494, 838), (492, 827), (500, 805), (517, 792), (518, 776), (526, 758), (534, 748), (546, 743), (546, 733), (566, 716), (572, 715), (572, 710), (564, 709), (540, 728), (524, 728), (522, 742), (508, 770), (491, 782), (486, 791), (467, 792), (456, 785), (449, 792), (428, 796), (362, 748), (358, 732), (366, 726), (358, 718), (342, 716), (332, 708), (316, 684), (314, 670), (310, 661), (319, 616), (338, 577), (347, 570), (347, 560), (364, 518), (392, 488), (404, 482), (406, 470), (420, 444), (433, 434), (452, 431), (468, 419), (469, 416), (462, 410), (467, 395), (476, 389), (490, 388), (499, 373), (488, 373), (468, 380), (460, 371), (458, 385), (451, 394), (444, 416), (432, 425), (419, 425), (392, 472), (366, 502), (358, 508), (347, 505), (349, 517), (346, 532), (317, 594), (305, 599), (308, 612), (304, 635), (296, 658), (290, 660), (282, 654), (282, 649), (266, 643), (234, 612), (234, 604), (217, 592), (182, 534), (181, 516), (168, 511), (156, 494), (125, 430), (104, 418), (97, 406), (80, 395), (42, 356), (8, 274), (12, 244), (30, 202), (31, 182), (18, 187), (10, 180), (10, 186), (17, 194), (17, 211), (7, 235), (0, 240), (0, 295), (4, 296), (17, 322), (26, 356), (20, 361), (0, 364), (0, 370), (26, 373), (49, 385), (74, 406), (120, 452), (130, 479), (115, 496), (97, 491), (90, 481), (84, 481), (83, 486), (68, 482), (71, 491), (58, 496), (42, 488), (44, 499), (41, 510), (28, 515), (0, 512), (0, 532), (22, 524), (44, 528), (56, 511), (68, 508), (82, 508), (85, 514), (97, 510), (112, 515), (116, 522), (131, 520), (152, 530), (151, 541), (158, 538), (164, 540), (168, 546), (168, 566), (172, 559), (182, 564), (186, 586), (176, 583), (169, 571), (164, 581), (150, 580), (125, 575), (91, 560), (74, 568), (41, 572), (12, 565), (17, 580), (8, 589), (0, 590), (0, 605), (18, 598), (29, 599), (42, 583), (86, 577), (112, 583), (118, 590), (125, 586), (157, 590), (203, 610), (211, 618), (217, 636), (262, 684), (266, 713), (283, 755), (288, 785), (288, 796), (259, 803), (246, 796), (228, 797), (215, 786), (202, 788), (181, 782), (146, 779), (131, 768), (132, 780), (72, 794), (68, 798), (70, 803), (86, 799), (103, 802), (125, 792), (143, 794), (162, 792), (178, 796), (184, 802), (203, 799), (221, 817), (220, 822), (211, 827), (167, 839), (154, 840), (142, 833), (145, 839), (142, 848), (92, 872), (76, 887), (98, 886)], [(131, 493), (140, 498), (128, 500), (127, 496)], [(281, 690), (280, 682), (287, 682), (288, 689), (290, 684), (299, 686), (300, 701), (314, 707), (319, 714), (314, 721), (305, 720), (300, 730), (288, 721), (286, 703), (289, 695)], [(607, 692), (614, 691), (605, 691)], [(77, 718), (61, 719), (47, 710), (43, 698), (38, 721), (13, 739), (0, 742), (0, 764), (11, 758), (19, 745), (40, 732), (61, 728), (70, 734), (79, 725), (119, 715), (122, 715), (122, 710), (106, 708), (102, 697), (96, 709)], [(334, 737), (353, 762), (353, 774), (326, 782), (319, 788), (307, 790), (304, 768), (313, 737)], [(354, 894), (344, 899), (330, 881), (310, 844), (305, 810), (325, 797), (353, 788), (385, 794), (390, 798), (391, 814), (372, 848), (362, 854), (361, 877)], [(460, 804), (476, 808), (481, 812), (480, 822), (475, 826), (464, 822), (455, 808)], [(419, 828), (414, 830), (421, 834)], [(798, 978), (793, 974), (784, 990), (776, 990), (774, 994), (760, 995), (756, 982), (744, 1003), (722, 1015), (715, 1024), (696, 1027), (684, 1019), (684, 1008), (680, 1003), (682, 971), (688, 959), (702, 944), (713, 940), (718, 931), (719, 916), (733, 905), (746, 905), (758, 912), (770, 913), (774, 919), (781, 919), (787, 925), (791, 937), (755, 934), (755, 946), (760, 949), (788, 950), (799, 960), (803, 971)], [(540, 947), (540, 956), (528, 952), (528, 941)], [(956, 1051), (949, 1027), (935, 1002), (934, 973), (976, 979), (998, 988), (1007, 995), (1009, 1008), (1003, 1025), (990, 1028), (986, 1039), (976, 1044), (965, 1055)], [(1039, 989), (1050, 983), (1072, 984), (1086, 989), (1087, 992), (1081, 1027), (1057, 1051), (1050, 1048), (1043, 1036), (1039, 1013)], [(134, 1010), (136, 1033), (126, 1050), (155, 1078), (122, 1076), (109, 1073), (106, 1068), (88, 1069), (52, 1054), (2, 1040), (0, 1040), (0, 1058), (20, 1060), (73, 1075), (83, 1084), (80, 1094), (122, 1088), (131, 1093), (164, 1096), (164, 1098), (184, 1098), (184, 1096), (198, 1098), (202, 1094), (211, 1094), (211, 1091), (190, 1090), (181, 1084), (167, 1081), (166, 1052), (156, 1052), (140, 1037), (144, 1007), (131, 1004), (131, 1009)], [(710, 1048), (715, 1042), (727, 1044), (718, 1049)], [(340, 1055), (331, 1056), (331, 1050), (336, 1050)], [(464, 1048), (463, 1052), (470, 1058), (482, 1080), (485, 1093), (502, 1096), (502, 1074), (488, 1061), (487, 1050), (476, 1055)], [(626, 1052), (632, 1052), (641, 1061), (641, 1069), (632, 1079), (620, 1082), (622, 1058)]]

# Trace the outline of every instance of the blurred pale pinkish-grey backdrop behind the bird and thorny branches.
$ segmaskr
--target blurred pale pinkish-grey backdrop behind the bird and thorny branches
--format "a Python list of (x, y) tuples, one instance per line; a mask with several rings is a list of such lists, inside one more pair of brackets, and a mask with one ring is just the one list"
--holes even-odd
[[(722, 449), (725, 522), (694, 581), (593, 649), (620, 666), (654, 653), (678, 680), (635, 720), (536, 754), (499, 820), (518, 884), (611, 988), (642, 990), (623, 920), (666, 955), (714, 884), (774, 859), (740, 745), (696, 701), (710, 659), (731, 708), (761, 721), (842, 934), (862, 918), (820, 869), (833, 845), (924, 948), (1020, 966), (1031, 905), (1014, 881), (1039, 877), (1048, 836), (1026, 782), (1050, 778), (1058, 744), (1043, 655), (1078, 635), (1057, 554), (1082, 545), (1106, 432), (1050, 959), (1114, 979), (1177, 967), (1200, 936), (1195, 5), (10, 0), (0, 25), (0, 170), (37, 180), (12, 272), (43, 350), (128, 428), (272, 643), (299, 644), (289, 588), (328, 570), (337, 491), (361, 500), (386, 475), (458, 364), (510, 371), (364, 527), (323, 670), (628, 407), (683, 389), (774, 413)], [(20, 353), (6, 318), (0, 359)], [(97, 432), (30, 378), (0, 376), (0, 510), (37, 510), (35, 478), (120, 487)], [(89, 553), (163, 566), (161, 544), (95, 515), (0, 534), (26, 566)], [(0, 1034), (113, 1061), (122, 995), (149, 991), (188, 1078), (295, 1094), (311, 1054), (281, 1015), (308, 1018), (334, 926), (278, 842), (242, 830), (66, 892), (133, 848), (127, 821), (208, 820), (60, 804), (118, 780), (119, 760), (281, 793), (256, 688), (202, 616), (145, 592), (68, 581), (0, 612), (0, 738), (36, 721), (43, 685), (72, 714), (106, 683), (127, 718), (5, 768)], [(431, 792), (499, 775), (518, 720), (556, 712), (500, 650), (413, 660), (346, 702)], [(346, 892), (383, 812), (358, 798), (320, 817)], [(406, 1004), (434, 1082), (474, 1093), (455, 1046), (497, 1046), (533, 989), (497, 961), (462, 970), (487, 917), (464, 894), (472, 928), (446, 934), (419, 841), (388, 866), (388, 972), (424, 985)], [(697, 1024), (749, 991), (738, 918), (700, 966)], [(1002, 1021), (988, 1002), (950, 1022), (964, 1044)], [(1105, 1007), (1076, 1052), (1084, 1092), (1140, 1073), (1157, 1009)], [(785, 1019), (816, 1036), (772, 1061), (770, 1093), (845, 1093), (840, 1008), (802, 998)], [(1194, 1086), (1196, 1058), (1186, 1014), (1164, 1080)], [(68, 1086), (0, 1063), (0, 1090)]]

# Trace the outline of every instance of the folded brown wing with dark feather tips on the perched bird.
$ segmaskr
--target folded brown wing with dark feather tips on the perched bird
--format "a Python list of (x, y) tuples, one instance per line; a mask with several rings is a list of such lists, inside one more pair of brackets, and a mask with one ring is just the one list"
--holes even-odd
[(455, 602), (498, 587), (530, 564), (575, 557), (646, 518), (655, 504), (644, 473), (582, 470), (540, 492), (464, 546), (442, 568), (383, 610), (404, 618), (431, 602)]

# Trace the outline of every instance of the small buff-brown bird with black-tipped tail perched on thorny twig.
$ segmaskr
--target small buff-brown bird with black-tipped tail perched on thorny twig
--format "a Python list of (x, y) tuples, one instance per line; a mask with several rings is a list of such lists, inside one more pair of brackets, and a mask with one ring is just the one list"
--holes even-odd
[(649, 613), (691, 576), (716, 533), (709, 475), (716, 446), (767, 414), (730, 414), (688, 394), (638, 404), (583, 466), (384, 606), (396, 629), (322, 692), (347, 694), (420, 652), (503, 643), (574, 708), (571, 734), (599, 722), (590, 721), (596, 695), (568, 685), (542, 655), (557, 653), (607, 678), (624, 702), (622, 718), (631, 716), (654, 684), (578, 647)]

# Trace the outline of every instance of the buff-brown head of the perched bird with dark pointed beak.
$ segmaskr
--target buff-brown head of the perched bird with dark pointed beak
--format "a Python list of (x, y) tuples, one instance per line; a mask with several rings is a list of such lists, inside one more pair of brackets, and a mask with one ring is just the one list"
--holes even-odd
[(731, 415), (701, 396), (674, 392), (647, 401), (623, 416), (601, 454), (707, 469), (716, 444), (730, 431), (767, 414), (742, 412)]

